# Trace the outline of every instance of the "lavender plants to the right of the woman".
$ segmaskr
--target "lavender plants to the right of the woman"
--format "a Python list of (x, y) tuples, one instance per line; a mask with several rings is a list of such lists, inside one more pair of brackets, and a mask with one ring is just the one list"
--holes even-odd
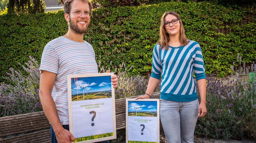
[[(237, 61), (241, 62), (239, 55)], [(256, 65), (249, 68), (255, 71)], [(256, 82), (249, 82), (245, 63), (241, 74), (234, 71), (234, 66), (231, 70), (235, 74), (227, 85), (212, 76), (207, 78), (207, 114), (198, 119), (195, 134), (227, 140), (256, 138)]]

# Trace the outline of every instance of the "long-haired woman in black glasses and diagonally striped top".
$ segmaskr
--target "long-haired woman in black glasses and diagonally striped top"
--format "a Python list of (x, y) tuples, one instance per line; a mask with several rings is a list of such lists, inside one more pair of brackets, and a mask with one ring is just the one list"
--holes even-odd
[(162, 16), (160, 40), (153, 50), (152, 65), (146, 93), (136, 99), (150, 98), (162, 76), (160, 119), (167, 142), (194, 142), (197, 118), (206, 114), (205, 68), (199, 44), (185, 37), (180, 16), (174, 11)]

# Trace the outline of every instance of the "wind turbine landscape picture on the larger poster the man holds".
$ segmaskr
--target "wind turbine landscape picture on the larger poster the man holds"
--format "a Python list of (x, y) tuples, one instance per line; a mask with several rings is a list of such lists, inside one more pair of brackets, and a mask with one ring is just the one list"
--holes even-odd
[(111, 98), (111, 76), (71, 78), (72, 101)]

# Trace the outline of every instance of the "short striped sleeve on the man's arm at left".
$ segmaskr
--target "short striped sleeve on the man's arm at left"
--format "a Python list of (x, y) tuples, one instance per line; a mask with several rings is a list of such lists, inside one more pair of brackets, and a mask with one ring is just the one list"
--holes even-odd
[(59, 67), (59, 56), (56, 51), (51, 47), (46, 45), (43, 49), (43, 54), (41, 57), (40, 74), (42, 70), (49, 71), (51, 73), (58, 73)]

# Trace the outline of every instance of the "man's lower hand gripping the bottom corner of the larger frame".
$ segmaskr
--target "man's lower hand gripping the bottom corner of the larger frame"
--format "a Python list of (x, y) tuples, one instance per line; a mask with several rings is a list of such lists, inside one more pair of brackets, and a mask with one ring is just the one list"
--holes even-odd
[(71, 143), (76, 139), (70, 131), (64, 128), (54, 132), (58, 143)]

